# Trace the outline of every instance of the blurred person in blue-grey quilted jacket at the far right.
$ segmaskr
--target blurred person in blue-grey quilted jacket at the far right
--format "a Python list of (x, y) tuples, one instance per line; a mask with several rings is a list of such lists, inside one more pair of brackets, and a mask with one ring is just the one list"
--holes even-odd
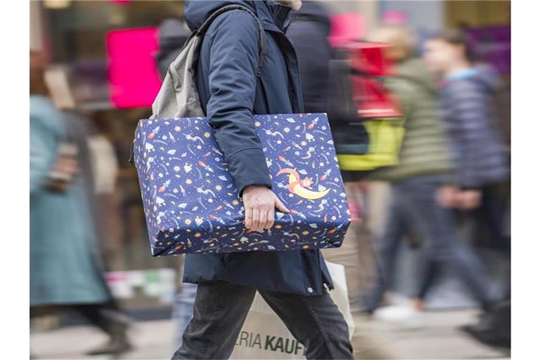
[(442, 189), (440, 203), (475, 210), (490, 224), (492, 238), (509, 247), (503, 235), (509, 194), (509, 155), (497, 124), (495, 98), (502, 89), (497, 73), (475, 62), (462, 30), (447, 30), (425, 42), (425, 60), (442, 78), (440, 110), (456, 163), (456, 186)]

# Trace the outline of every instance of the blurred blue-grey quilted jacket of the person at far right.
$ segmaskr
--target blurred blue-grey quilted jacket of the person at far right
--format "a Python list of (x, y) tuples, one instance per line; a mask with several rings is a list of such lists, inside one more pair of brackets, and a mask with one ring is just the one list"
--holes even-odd
[(441, 110), (461, 188), (480, 188), (509, 178), (509, 157), (495, 119), (499, 77), (487, 66), (448, 77)]

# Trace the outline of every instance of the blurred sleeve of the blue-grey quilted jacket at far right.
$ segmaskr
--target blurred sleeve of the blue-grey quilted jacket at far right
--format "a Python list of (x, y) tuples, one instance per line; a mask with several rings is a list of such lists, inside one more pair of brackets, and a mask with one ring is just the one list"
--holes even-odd
[(464, 189), (479, 188), (483, 185), (479, 173), (485, 169), (480, 150), (485, 146), (485, 131), (489, 131), (486, 128), (487, 104), (473, 84), (462, 82), (451, 90), (451, 126), (461, 154), (456, 162), (458, 185)]

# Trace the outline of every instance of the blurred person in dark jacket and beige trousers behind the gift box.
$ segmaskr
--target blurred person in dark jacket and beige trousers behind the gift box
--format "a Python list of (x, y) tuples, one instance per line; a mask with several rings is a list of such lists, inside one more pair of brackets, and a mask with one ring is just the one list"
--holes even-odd
[[(302, 98), (306, 113), (328, 113), (332, 135), (337, 141), (352, 141), (366, 143), (366, 134), (359, 136), (359, 131), (354, 131), (349, 121), (360, 122), (354, 105), (350, 105), (349, 113), (343, 101), (351, 96), (349, 91), (344, 91), (349, 86), (349, 73), (343, 77), (345, 84), (330, 84), (336, 81), (337, 77), (330, 77), (330, 63), (344, 64), (344, 61), (337, 59), (335, 49), (332, 49), (328, 41), (330, 35), (330, 15), (321, 2), (303, 1), (302, 7), (291, 15), (291, 25), (287, 29), (287, 37), (292, 41), (297, 58), (299, 60), (299, 73), (301, 76)], [(334, 68), (334, 70), (338, 70)], [(340, 68), (342, 70), (342, 68)], [(347, 71), (349, 72), (349, 67)], [(333, 72), (335, 74), (335, 72)], [(345, 96), (330, 96), (336, 88), (342, 88), (341, 94)], [(352, 97), (349, 97), (352, 101)], [(331, 105), (331, 103), (335, 102)], [(333, 110), (332, 108), (336, 108)], [(357, 129), (363, 131), (362, 127)], [(381, 336), (375, 335), (366, 328), (363, 323), (361, 309), (356, 301), (359, 298), (363, 286), (362, 244), (368, 240), (367, 231), (359, 229), (361, 226), (360, 209), (354, 210), (359, 198), (359, 182), (356, 181), (354, 173), (349, 176), (342, 172), (344, 185), (349, 202), (349, 210), (352, 211), (352, 224), (349, 226), (344, 242), (340, 248), (323, 249), (325, 259), (330, 262), (344, 265), (346, 271), (347, 292), (349, 306), (356, 323), (355, 333), (352, 338), (355, 356), (362, 356), (366, 359), (392, 359), (390, 347), (383, 344)]]

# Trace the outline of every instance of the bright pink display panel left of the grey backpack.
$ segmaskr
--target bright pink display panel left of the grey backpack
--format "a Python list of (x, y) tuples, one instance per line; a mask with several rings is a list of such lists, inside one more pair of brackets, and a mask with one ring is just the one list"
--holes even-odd
[(117, 108), (152, 105), (161, 86), (154, 53), (158, 29), (114, 30), (106, 35), (111, 102)]

